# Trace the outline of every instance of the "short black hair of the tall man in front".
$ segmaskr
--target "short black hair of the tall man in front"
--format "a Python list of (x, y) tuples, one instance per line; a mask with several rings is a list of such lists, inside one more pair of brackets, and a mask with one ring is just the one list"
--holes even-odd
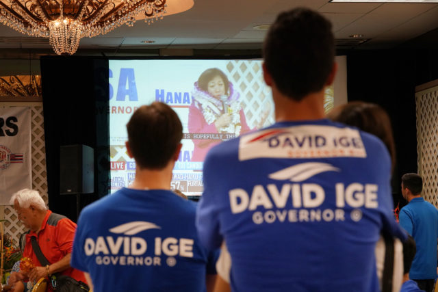
[(263, 59), (281, 93), (296, 101), (324, 88), (335, 62), (332, 25), (318, 12), (296, 8), (277, 16)]

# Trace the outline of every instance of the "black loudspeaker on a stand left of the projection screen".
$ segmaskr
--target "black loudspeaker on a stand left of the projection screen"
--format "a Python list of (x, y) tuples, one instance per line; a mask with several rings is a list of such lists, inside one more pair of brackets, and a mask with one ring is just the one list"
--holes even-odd
[(60, 150), (60, 194), (94, 193), (94, 150), (86, 145), (66, 145)]

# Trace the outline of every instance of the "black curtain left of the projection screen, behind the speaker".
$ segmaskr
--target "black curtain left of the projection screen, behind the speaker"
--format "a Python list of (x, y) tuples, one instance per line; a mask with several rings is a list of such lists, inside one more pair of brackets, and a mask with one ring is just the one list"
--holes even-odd
[[(49, 209), (77, 221), (77, 209), (105, 196), (110, 181), (108, 60), (41, 57)], [(94, 149), (94, 193), (60, 195), (60, 147)]]

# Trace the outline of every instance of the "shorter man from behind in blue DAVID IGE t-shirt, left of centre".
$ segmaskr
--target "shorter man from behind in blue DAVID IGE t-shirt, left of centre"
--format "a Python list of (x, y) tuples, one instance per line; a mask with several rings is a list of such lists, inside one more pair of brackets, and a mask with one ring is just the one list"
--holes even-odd
[(71, 265), (86, 272), (94, 292), (212, 287), (218, 252), (198, 241), (195, 203), (170, 191), (182, 129), (164, 103), (142, 106), (129, 120), (126, 147), (136, 178), (83, 209), (77, 224)]

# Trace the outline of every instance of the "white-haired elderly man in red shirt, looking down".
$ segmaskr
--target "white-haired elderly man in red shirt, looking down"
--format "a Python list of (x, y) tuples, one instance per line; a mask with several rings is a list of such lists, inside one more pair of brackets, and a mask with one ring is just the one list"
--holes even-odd
[[(31, 189), (17, 191), (12, 195), (10, 203), (14, 205), (18, 219), (26, 228), (29, 228), (25, 237), (23, 258), (30, 258), (35, 266), (27, 273), (25, 271), (12, 273), (9, 281), (12, 289), (23, 291), (23, 280), (36, 282), (40, 278), (50, 277), (55, 273), (86, 282), (82, 271), (70, 267), (70, 256), (76, 230), (75, 222), (47, 209), (38, 191)], [(42, 254), (49, 261), (49, 265), (42, 265), (38, 260), (32, 247), (32, 237), (36, 237), (36, 242), (40, 246)]]

